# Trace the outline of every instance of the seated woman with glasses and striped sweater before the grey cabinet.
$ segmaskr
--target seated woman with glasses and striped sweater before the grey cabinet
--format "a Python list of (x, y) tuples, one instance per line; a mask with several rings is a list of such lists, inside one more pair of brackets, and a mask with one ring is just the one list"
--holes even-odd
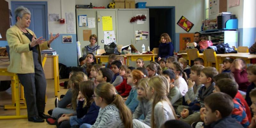
[(98, 37), (95, 34), (92, 34), (90, 36), (90, 43), (91, 44), (89, 44), (87, 46), (84, 46), (84, 49), (83, 49), (83, 57), (84, 58), (86, 58), (86, 55), (88, 53), (93, 53), (93, 55), (96, 55), (96, 51), (98, 49), (100, 49), (100, 46), (95, 44), (97, 41), (98, 41)]

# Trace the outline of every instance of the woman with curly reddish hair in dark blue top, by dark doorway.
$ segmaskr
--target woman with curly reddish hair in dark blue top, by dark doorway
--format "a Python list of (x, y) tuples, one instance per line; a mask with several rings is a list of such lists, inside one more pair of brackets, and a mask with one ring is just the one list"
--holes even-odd
[(170, 36), (167, 33), (163, 33), (161, 36), (161, 40), (159, 41), (159, 49), (158, 49), (158, 59), (157, 61), (160, 61), (161, 58), (168, 58), (170, 56), (173, 56), (174, 47), (171, 43), (172, 40)]

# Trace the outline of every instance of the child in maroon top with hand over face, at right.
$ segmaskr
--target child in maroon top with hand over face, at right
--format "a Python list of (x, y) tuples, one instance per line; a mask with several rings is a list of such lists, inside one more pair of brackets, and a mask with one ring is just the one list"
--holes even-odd
[(242, 95), (246, 94), (246, 90), (250, 85), (247, 79), (246, 63), (243, 59), (237, 58), (233, 61), (230, 71), (234, 74), (236, 83), (238, 84), (238, 90)]

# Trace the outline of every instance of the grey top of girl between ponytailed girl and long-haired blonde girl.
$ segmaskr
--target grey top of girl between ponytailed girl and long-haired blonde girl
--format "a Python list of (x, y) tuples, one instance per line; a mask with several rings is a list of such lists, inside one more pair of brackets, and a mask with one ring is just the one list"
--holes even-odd
[(132, 119), (139, 119), (140, 116), (143, 114), (145, 119), (144, 120), (139, 119), (139, 120), (141, 122), (147, 124), (148, 126), (150, 126), (151, 112), (152, 112), (152, 102), (153, 102), (153, 99), (151, 99), (151, 100), (146, 100), (146, 99), (141, 100), (139, 102), (139, 105), (136, 108), (135, 112), (132, 114)]

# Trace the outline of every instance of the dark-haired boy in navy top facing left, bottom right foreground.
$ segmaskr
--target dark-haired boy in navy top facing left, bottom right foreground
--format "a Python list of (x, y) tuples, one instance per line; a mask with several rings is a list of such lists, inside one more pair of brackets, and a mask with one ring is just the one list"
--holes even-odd
[(230, 116), (234, 103), (228, 94), (213, 93), (204, 99), (204, 104), (204, 128), (243, 128)]

